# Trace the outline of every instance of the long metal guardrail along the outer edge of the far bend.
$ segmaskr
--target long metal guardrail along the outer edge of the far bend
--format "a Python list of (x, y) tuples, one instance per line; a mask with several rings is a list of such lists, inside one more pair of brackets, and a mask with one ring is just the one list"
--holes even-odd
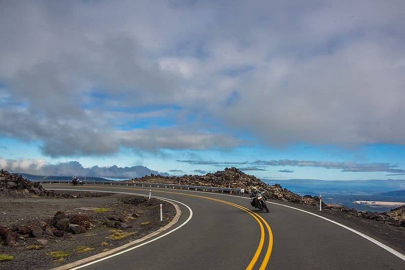
[[(38, 182), (39, 184), (70, 184), (70, 180), (31, 180), (32, 182)], [(172, 189), (185, 189), (195, 191), (211, 191), (221, 193), (245, 193), (245, 189), (232, 189), (232, 188), (217, 188), (217, 187), (201, 187), (201, 186), (187, 186), (187, 185), (175, 185), (175, 184), (159, 184), (159, 183), (140, 183), (140, 182), (118, 182), (118, 181), (82, 181), (86, 186), (126, 186), (126, 187), (150, 187), (150, 188), (172, 188)]]

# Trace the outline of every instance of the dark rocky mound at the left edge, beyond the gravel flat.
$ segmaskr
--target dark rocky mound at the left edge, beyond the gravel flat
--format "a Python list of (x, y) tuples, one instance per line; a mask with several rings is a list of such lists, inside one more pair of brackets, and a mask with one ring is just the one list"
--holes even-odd
[(45, 191), (42, 185), (33, 183), (19, 174), (0, 170), (0, 196), (26, 197), (29, 195), (53, 197), (54, 192)]

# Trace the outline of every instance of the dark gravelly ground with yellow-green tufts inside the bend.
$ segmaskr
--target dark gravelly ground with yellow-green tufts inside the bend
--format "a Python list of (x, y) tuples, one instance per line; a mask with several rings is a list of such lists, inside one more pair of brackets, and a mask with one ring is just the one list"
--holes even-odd
[[(44, 234), (41, 238), (26, 235), (20, 237), (14, 247), (0, 245), (0, 255), (14, 256), (11, 261), (0, 262), (1, 269), (60, 266), (139, 239), (165, 226), (176, 215), (172, 204), (153, 198), (85, 192), (72, 192), (69, 197), (0, 197), (0, 227), (12, 228), (28, 223), (44, 226), (57, 211), (64, 211), (66, 215), (86, 214), (91, 219), (91, 226), (82, 234), (65, 233), (62, 237)], [(163, 221), (159, 217), (160, 203), (163, 203)], [(114, 220), (119, 218), (132, 228), (107, 227), (113, 226)], [(2, 239), (0, 242), (5, 243)], [(67, 255), (57, 256), (63, 253)]]

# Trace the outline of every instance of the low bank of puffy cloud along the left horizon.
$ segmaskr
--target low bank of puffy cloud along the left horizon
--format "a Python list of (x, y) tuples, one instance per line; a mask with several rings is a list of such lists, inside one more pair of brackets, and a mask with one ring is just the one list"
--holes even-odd
[[(4, 159), (0, 157), (0, 167), (9, 171), (28, 173), (34, 175), (48, 176), (93, 176), (108, 178), (138, 178), (151, 173), (159, 172), (150, 170), (145, 166), (118, 167), (112, 165), (109, 167), (93, 166), (85, 168), (77, 161), (64, 162), (59, 164), (47, 164), (41, 159)], [(168, 175), (167, 173), (160, 173)]]

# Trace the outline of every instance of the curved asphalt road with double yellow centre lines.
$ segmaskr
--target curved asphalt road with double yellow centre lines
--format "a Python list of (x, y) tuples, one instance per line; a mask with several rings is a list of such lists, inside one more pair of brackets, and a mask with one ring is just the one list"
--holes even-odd
[[(149, 194), (140, 187), (44, 187)], [(188, 205), (192, 218), (163, 238), (83, 269), (405, 269), (403, 259), (376, 244), (295, 209), (269, 204), (265, 213), (246, 198), (183, 190), (152, 188), (152, 196)], [(182, 215), (169, 231), (190, 216), (179, 206)]]

